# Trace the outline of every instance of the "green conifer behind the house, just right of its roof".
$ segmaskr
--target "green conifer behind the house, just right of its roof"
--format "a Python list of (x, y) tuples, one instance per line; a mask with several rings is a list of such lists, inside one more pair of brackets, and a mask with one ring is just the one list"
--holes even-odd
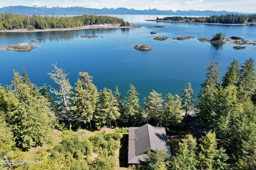
[(177, 94), (172, 96), (168, 93), (164, 100), (165, 105), (165, 117), (166, 117), (166, 128), (170, 122), (174, 128), (175, 126), (182, 121), (182, 111), (181, 111), (181, 101), (180, 96)]

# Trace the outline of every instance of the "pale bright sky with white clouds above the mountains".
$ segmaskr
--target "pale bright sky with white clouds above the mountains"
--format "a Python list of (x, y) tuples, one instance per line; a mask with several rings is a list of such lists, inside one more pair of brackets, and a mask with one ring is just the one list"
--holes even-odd
[(256, 0), (0, 0), (6, 6), (128, 8), (135, 10), (213, 10), (256, 13)]

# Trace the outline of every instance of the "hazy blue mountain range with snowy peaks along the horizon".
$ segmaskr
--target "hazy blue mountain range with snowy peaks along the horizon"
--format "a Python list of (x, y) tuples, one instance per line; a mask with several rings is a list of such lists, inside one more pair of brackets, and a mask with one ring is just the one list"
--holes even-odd
[[(169, 14), (169, 15), (188, 15), (188, 16), (210, 16), (210, 15), (226, 15), (226, 14), (237, 14), (238, 12), (227, 12), (227, 11), (172, 11), (172, 10), (134, 10), (127, 8), (84, 8), (84, 7), (29, 7), (29, 6), (8, 6), (0, 8), (0, 13), (8, 14), (25, 14), (25, 15), (81, 15), (81, 14)], [(239, 13), (239, 14), (250, 14), (250, 13)]]

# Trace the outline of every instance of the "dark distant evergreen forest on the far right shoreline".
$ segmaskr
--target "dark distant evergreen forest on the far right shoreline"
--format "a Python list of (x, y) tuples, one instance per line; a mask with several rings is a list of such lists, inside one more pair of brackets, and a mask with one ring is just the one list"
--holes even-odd
[(244, 15), (244, 14), (226, 14), (221, 16), (209, 16), (209, 17), (182, 17), (182, 16), (172, 16), (172, 17), (164, 17), (164, 18), (156, 18), (156, 20), (172, 20), (172, 21), (180, 21), (180, 20), (188, 20), (195, 22), (204, 22), (204, 23), (246, 23), (256, 21), (256, 14), (254, 15)]

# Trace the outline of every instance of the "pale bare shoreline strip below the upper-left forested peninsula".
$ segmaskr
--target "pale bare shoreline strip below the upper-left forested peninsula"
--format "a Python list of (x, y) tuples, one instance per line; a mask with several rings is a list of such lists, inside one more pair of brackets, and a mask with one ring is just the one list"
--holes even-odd
[(120, 26), (120, 24), (104, 24), (104, 25), (85, 25), (74, 28), (46, 28), (46, 29), (2, 29), (0, 32), (43, 32), (43, 31), (68, 31), (78, 29), (92, 29), (92, 28), (139, 28), (140, 26)]

